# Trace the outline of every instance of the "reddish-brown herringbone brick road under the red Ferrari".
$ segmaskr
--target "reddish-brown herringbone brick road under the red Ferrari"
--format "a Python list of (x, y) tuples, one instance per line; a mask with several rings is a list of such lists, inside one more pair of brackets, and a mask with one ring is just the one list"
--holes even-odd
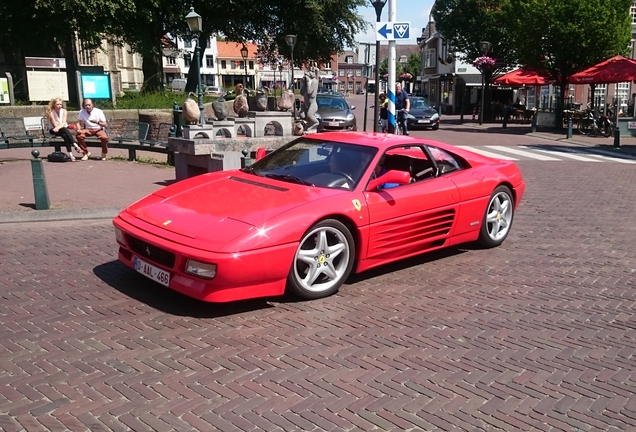
[(178, 295), (108, 220), (0, 224), (0, 429), (636, 430), (636, 169), (518, 164), (501, 247), (315, 301)]

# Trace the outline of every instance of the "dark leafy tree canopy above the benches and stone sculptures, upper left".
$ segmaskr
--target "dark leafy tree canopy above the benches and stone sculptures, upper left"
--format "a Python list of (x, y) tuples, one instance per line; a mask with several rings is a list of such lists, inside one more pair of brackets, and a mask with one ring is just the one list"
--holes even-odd
[(334, 52), (353, 46), (355, 35), (368, 25), (357, 12), (365, 4), (365, 0), (5, 0), (0, 2), (0, 50), (8, 63), (19, 65), (18, 59), (32, 55), (63, 52), (72, 59), (76, 33), (88, 47), (110, 38), (143, 56), (144, 89), (158, 90), (163, 86), (161, 37), (192, 36), (185, 22), (190, 6), (203, 18), (202, 43), (212, 34), (236, 42), (254, 41), (259, 57), (266, 61), (278, 55), (290, 58), (284, 37), (296, 34), (294, 59), (302, 63), (327, 61)]

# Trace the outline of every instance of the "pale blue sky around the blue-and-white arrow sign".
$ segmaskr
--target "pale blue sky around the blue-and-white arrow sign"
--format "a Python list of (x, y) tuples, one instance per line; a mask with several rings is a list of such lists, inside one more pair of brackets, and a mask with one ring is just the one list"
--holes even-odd
[[(422, 28), (428, 23), (428, 16), (435, 0), (393, 0), (395, 1), (396, 21), (410, 22), (410, 39), (402, 41), (406, 44), (416, 43), (416, 39), (421, 36)], [(371, 2), (367, 2), (368, 6), (358, 9), (362, 17), (371, 25), (366, 33), (356, 35), (357, 42), (375, 42), (375, 9), (371, 6)], [(389, 2), (382, 9), (382, 17), (380, 21), (389, 20)], [(399, 42), (398, 42), (399, 43)]]

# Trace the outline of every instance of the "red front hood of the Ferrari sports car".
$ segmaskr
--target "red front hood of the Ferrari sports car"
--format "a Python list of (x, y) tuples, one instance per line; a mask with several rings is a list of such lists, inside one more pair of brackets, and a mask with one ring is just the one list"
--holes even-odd
[(335, 193), (342, 192), (224, 171), (168, 186), (127, 212), (186, 237), (213, 235), (220, 245), (295, 207)]

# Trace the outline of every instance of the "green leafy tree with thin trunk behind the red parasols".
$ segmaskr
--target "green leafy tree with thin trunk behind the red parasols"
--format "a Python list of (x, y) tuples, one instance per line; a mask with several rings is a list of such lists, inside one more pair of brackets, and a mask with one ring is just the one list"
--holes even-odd
[[(519, 63), (545, 72), (565, 98), (570, 77), (630, 47), (632, 0), (511, 0)], [(528, 31), (532, 29), (532, 31)], [(557, 108), (558, 121), (562, 110)]]

